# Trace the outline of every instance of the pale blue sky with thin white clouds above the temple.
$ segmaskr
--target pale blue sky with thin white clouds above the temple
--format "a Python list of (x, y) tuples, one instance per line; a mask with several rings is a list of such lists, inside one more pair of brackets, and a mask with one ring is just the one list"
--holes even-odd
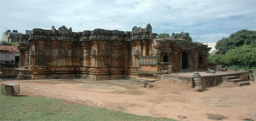
[[(256, 30), (256, 0), (0, 0), (0, 32), (52, 25), (73, 31), (131, 31), (152, 25), (154, 33), (185, 31), (197, 42), (217, 42), (238, 30)], [(0, 35), (2, 39), (2, 34)]]

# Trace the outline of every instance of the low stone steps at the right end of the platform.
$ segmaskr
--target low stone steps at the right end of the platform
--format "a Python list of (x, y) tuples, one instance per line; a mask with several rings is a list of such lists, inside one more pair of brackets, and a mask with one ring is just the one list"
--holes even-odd
[(223, 80), (223, 82), (233, 82), (234, 87), (241, 87), (241, 86), (244, 86), (244, 85), (250, 85), (250, 81), (240, 79), (237, 76), (225, 76), (225, 77), (222, 77), (222, 80)]

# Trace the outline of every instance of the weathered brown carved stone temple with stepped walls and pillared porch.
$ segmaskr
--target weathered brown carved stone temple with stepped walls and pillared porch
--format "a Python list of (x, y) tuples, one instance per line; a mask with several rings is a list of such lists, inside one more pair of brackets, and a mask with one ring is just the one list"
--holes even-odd
[(21, 38), (20, 68), (28, 69), (31, 79), (89, 80), (157, 79), (160, 74), (207, 68), (210, 48), (188, 41), (188, 33), (156, 36), (150, 24), (126, 32), (34, 28)]

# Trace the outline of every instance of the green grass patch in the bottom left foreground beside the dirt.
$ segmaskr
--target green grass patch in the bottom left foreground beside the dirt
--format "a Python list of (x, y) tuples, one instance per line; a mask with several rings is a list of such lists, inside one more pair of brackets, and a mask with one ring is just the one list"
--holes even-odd
[(66, 104), (59, 99), (4, 94), (0, 94), (0, 111), (0, 120), (171, 120)]

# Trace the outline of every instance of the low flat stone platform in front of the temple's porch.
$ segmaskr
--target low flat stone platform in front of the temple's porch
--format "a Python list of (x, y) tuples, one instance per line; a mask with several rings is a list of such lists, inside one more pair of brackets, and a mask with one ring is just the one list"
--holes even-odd
[[(206, 87), (214, 87), (223, 82), (222, 77), (226, 76), (237, 76), (240, 79), (248, 80), (249, 79), (249, 71), (240, 70), (240, 71), (216, 71), (216, 73), (206, 73), (206, 71), (199, 71), (202, 77), (202, 81), (204, 81), (204, 85)], [(172, 73), (172, 74), (162, 74), (160, 76), (160, 80), (175, 80), (180, 82), (188, 87), (194, 87), (194, 72), (187, 73)]]

